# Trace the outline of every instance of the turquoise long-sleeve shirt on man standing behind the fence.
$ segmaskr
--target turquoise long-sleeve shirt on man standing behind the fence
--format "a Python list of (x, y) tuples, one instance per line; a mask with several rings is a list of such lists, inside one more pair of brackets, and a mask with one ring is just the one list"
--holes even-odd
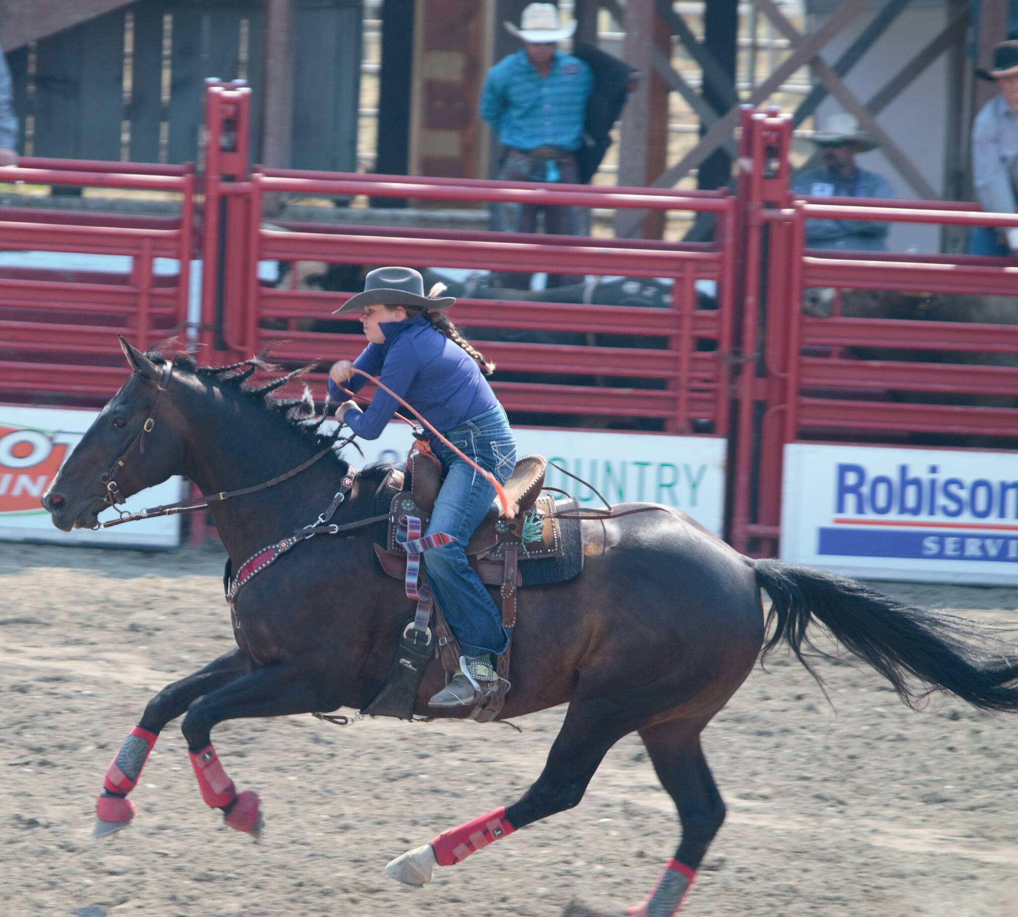
[(488, 71), (480, 117), (506, 147), (578, 150), (592, 85), (590, 68), (578, 57), (556, 51), (548, 75), (541, 77), (520, 48)]

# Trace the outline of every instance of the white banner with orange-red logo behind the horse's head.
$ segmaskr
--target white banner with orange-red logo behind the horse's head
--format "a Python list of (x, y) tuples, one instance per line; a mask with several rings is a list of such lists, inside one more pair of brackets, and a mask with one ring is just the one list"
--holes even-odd
[[(0, 405), (0, 538), (136, 548), (174, 548), (179, 543), (179, 516), (145, 519), (99, 531), (62, 532), (40, 506), (40, 498), (98, 414), (98, 411), (66, 408)], [(136, 454), (135, 460), (140, 461)], [(175, 503), (182, 496), (183, 479), (172, 477), (136, 494), (125, 508), (133, 512), (147, 506)], [(100, 518), (115, 519), (116, 513), (108, 510)]]

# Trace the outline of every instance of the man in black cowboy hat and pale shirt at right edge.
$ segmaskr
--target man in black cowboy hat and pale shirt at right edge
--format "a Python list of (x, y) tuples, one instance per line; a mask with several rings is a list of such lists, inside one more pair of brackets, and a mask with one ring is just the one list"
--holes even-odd
[[(972, 184), (984, 211), (1013, 214), (1018, 186), (1018, 41), (994, 49), (994, 66), (979, 69), (1000, 92), (972, 124)], [(969, 254), (1018, 255), (1018, 228), (978, 226), (968, 238)]]

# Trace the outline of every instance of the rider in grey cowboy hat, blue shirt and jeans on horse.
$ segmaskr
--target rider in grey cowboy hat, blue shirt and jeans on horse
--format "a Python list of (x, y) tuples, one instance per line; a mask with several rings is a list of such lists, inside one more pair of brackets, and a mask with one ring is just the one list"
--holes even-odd
[[(417, 410), (436, 429), (480, 467), (504, 483), (516, 465), (516, 440), (506, 412), (487, 376), (495, 366), (456, 330), (448, 309), (451, 296), (441, 289), (423, 294), (423, 278), (410, 268), (378, 268), (364, 290), (334, 314), (359, 312), (369, 344), (352, 362), (339, 360), (329, 370), (329, 395), (340, 400), (345, 386), (356, 392), (376, 376)], [(441, 285), (436, 285), (440, 287)], [(378, 389), (367, 409), (344, 401), (336, 419), (364, 440), (375, 440), (399, 403)], [(427, 433), (427, 428), (426, 428)], [(429, 584), (463, 655), (460, 670), (429, 701), (431, 706), (471, 705), (498, 688), (492, 653), (504, 652), (509, 639), (502, 615), (466, 561), (465, 548), (495, 499), (495, 488), (462, 458), (427, 434), (442, 463), (445, 479), (425, 534), (445, 532), (455, 540), (421, 555)]]

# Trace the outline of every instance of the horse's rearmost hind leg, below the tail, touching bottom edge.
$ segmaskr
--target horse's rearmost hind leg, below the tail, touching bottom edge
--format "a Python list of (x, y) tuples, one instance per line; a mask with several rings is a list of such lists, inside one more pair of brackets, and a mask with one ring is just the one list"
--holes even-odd
[(673, 720), (639, 731), (654, 769), (679, 810), (682, 841), (643, 902), (626, 911), (633, 917), (671, 917), (678, 912), (725, 820), (725, 803), (700, 748), (699, 734), (705, 725)]

